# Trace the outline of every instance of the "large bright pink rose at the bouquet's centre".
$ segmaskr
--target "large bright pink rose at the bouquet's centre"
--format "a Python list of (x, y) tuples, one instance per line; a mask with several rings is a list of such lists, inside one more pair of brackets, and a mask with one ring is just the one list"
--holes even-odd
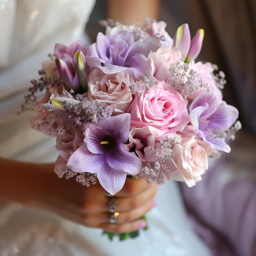
[(131, 114), (131, 126), (152, 126), (158, 134), (157, 137), (182, 131), (189, 123), (184, 99), (165, 82), (159, 82), (149, 91), (135, 97), (128, 112)]

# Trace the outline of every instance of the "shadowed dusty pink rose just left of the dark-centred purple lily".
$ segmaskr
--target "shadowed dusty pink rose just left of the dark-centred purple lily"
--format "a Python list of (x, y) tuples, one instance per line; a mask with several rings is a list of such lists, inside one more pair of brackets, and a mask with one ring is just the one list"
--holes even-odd
[(54, 172), (58, 177), (62, 177), (63, 173), (59, 172), (61, 166), (67, 166), (67, 160), (70, 158), (72, 153), (83, 144), (83, 131), (75, 128), (69, 123), (66, 123), (67, 130), (63, 135), (58, 135), (56, 138), (56, 150), (58, 151), (59, 157), (54, 165)]

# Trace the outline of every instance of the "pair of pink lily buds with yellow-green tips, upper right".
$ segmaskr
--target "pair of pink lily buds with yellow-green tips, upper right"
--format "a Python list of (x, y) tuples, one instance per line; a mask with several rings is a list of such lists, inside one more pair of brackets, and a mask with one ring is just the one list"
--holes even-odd
[(203, 39), (204, 29), (198, 29), (195, 36), (191, 40), (189, 25), (185, 23), (178, 27), (174, 36), (173, 46), (180, 50), (186, 63), (189, 63), (193, 61), (200, 53)]

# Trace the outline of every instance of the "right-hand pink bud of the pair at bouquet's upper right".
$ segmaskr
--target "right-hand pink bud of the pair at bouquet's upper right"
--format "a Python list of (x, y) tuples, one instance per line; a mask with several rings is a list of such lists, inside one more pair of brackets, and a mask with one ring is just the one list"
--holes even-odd
[(196, 31), (195, 33), (195, 36), (191, 40), (191, 46), (189, 49), (189, 54), (186, 57), (186, 63), (190, 63), (191, 61), (195, 60), (198, 54), (200, 54), (203, 40), (204, 40), (204, 29), (198, 29), (198, 31)]

